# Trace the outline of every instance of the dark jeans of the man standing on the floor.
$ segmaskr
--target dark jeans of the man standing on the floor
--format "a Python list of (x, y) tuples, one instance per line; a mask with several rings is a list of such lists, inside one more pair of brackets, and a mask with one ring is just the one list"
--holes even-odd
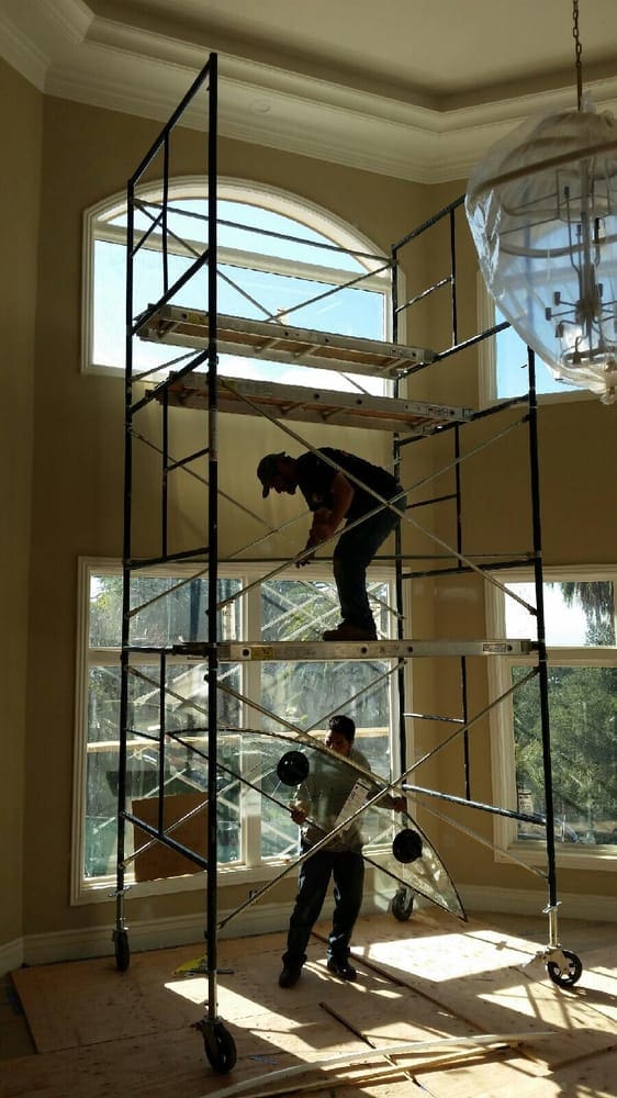
[(364, 860), (359, 851), (329, 851), (326, 848), (307, 858), (300, 866), (295, 907), (289, 921), (283, 964), (301, 968), (314, 923), (326, 898), (330, 876), (334, 881), (335, 909), (328, 935), (328, 959), (346, 961), (349, 942), (360, 914), (364, 886)]

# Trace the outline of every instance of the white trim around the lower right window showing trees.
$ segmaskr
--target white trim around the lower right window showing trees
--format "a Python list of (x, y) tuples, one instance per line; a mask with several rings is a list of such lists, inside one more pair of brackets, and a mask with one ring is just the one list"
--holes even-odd
[[(529, 582), (534, 579), (532, 569), (512, 570), (507, 573), (496, 574), (501, 582)], [(543, 581), (577, 581), (593, 582), (594, 580), (612, 579), (617, 585), (616, 565), (562, 565), (547, 567), (543, 569)], [(505, 598), (502, 592), (494, 585), (487, 584), (486, 592), (486, 628), (487, 636), (505, 636)], [(521, 638), (536, 640), (536, 636)], [(552, 647), (548, 649), (549, 664), (560, 662), (560, 653), (563, 653), (562, 662), (574, 666), (617, 666), (617, 649), (606, 648), (570, 648)], [(490, 697), (498, 697), (505, 694), (512, 686), (509, 669), (513, 663), (517, 665), (529, 664), (534, 666), (535, 659), (530, 657), (500, 658), (487, 661), (487, 676)], [(491, 776), (493, 788), (493, 804), (504, 808), (517, 810), (516, 804), (516, 773), (514, 763), (514, 729), (512, 720), (512, 696), (506, 702), (496, 705), (490, 714), (491, 730)], [(514, 803), (513, 803), (514, 799)], [(546, 845), (542, 841), (538, 843), (532, 840), (520, 842), (516, 840), (516, 820), (504, 816), (493, 817), (493, 841), (495, 844), (495, 862), (513, 864), (512, 859), (502, 851), (511, 851), (518, 859), (529, 865), (546, 866)], [(501, 848), (501, 849), (498, 849)], [(576, 844), (566, 847), (565, 843), (556, 843), (556, 859), (558, 866), (569, 866), (575, 870), (610, 870), (615, 872), (617, 863), (617, 850), (610, 853), (603, 849), (585, 847), (584, 852), (576, 848)]]

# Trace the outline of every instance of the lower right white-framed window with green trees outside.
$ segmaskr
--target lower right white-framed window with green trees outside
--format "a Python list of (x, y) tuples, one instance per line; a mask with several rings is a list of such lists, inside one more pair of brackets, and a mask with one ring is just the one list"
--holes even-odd
[[(492, 589), (493, 625), (508, 637), (535, 639), (532, 576), (501, 576), (513, 598)], [(552, 799), (558, 850), (569, 859), (617, 858), (617, 569), (548, 569), (543, 601)], [(534, 657), (501, 658), (490, 669), (500, 696), (493, 712), (496, 803), (537, 817), (498, 819), (502, 847), (532, 851), (546, 836), (546, 784)], [(513, 690), (513, 687), (515, 687)], [(511, 692), (508, 694), (508, 692)], [(597, 858), (596, 858), (597, 862)]]

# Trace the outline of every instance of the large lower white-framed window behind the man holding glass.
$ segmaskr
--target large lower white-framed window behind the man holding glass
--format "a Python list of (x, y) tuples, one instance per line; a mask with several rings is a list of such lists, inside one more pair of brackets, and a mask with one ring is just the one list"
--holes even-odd
[[(229, 569), (218, 580), (221, 639), (242, 635), (263, 640), (305, 636), (306, 621), (335, 625), (339, 608), (332, 576), (316, 565), (311, 580), (276, 576), (255, 584), (255, 573)], [(246, 594), (242, 594), (244, 589)], [(389, 636), (392, 579), (374, 569), (369, 593), (378, 630)], [(170, 646), (205, 640), (207, 580), (187, 567), (139, 570), (132, 578), (132, 643)], [(79, 575), (82, 623), (78, 660), (78, 728), (74, 899), (92, 898), (116, 866), (120, 727), (122, 570), (110, 561), (82, 560)], [(242, 623), (242, 624), (240, 624)], [(207, 788), (207, 691), (205, 665), (167, 657), (161, 718), (160, 666), (150, 652), (132, 654), (127, 737), (127, 807), (148, 798), (204, 794)], [(220, 668), (217, 731), (217, 821), (220, 865), (225, 872), (273, 872), (273, 863), (296, 850), (298, 828), (270, 787), (272, 775), (255, 753), (255, 731), (281, 730), (283, 722), (325, 733), (328, 717), (348, 713), (357, 742), (375, 774), (390, 776), (393, 748), (393, 666), (383, 660), (223, 663)], [(341, 690), (341, 683), (344, 688)], [(256, 699), (258, 708), (246, 701)], [(161, 749), (161, 725), (164, 748)], [(284, 725), (282, 726), (284, 730)], [(281, 748), (281, 752), (282, 752)], [(270, 784), (269, 784), (270, 783)], [(289, 791), (287, 791), (289, 794)], [(287, 795), (285, 794), (285, 795)], [(128, 879), (144, 834), (127, 829)], [(136, 844), (136, 845), (135, 845)], [(139, 855), (142, 856), (142, 855)], [(270, 870), (269, 870), (270, 867)], [(190, 867), (186, 871), (191, 872)], [(138, 877), (137, 877), (138, 878)], [(182, 887), (194, 877), (176, 878)], [(199, 879), (199, 878), (198, 878)], [(157, 888), (160, 889), (160, 882)]]

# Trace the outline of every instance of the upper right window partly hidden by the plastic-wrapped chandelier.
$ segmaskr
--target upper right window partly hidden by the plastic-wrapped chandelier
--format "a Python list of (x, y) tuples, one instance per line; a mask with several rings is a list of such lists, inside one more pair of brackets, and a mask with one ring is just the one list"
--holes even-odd
[[(479, 321), (481, 330), (503, 324), (500, 312), (479, 277)], [(507, 400), (524, 395), (529, 388), (527, 345), (511, 326), (497, 332), (480, 344), (482, 390), (486, 400)], [(546, 362), (536, 355), (536, 392), (538, 395), (563, 393), (583, 395), (583, 391), (568, 381), (558, 381)]]

